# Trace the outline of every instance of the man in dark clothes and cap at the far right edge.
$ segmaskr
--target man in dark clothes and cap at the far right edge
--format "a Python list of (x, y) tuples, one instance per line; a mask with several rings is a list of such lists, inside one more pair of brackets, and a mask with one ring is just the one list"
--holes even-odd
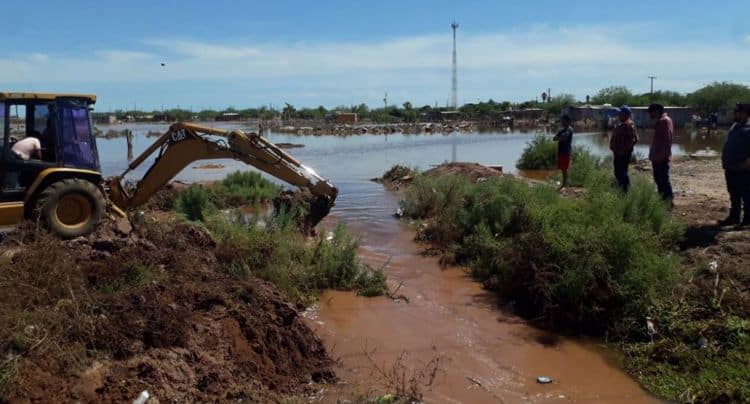
[[(729, 216), (719, 222), (722, 226), (750, 225), (750, 104), (737, 104), (734, 125), (729, 129), (721, 152), (721, 166), (729, 192)], [(744, 205), (745, 217), (740, 222)]]

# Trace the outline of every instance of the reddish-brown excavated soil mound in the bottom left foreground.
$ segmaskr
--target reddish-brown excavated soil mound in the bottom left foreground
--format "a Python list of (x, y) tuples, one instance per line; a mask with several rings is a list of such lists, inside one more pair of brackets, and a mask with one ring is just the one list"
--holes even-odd
[[(119, 227), (121, 228), (121, 227)], [(270, 401), (335, 376), (269, 283), (222, 271), (211, 236), (147, 222), (0, 245), (0, 402)], [(308, 387), (309, 388), (309, 387)]]

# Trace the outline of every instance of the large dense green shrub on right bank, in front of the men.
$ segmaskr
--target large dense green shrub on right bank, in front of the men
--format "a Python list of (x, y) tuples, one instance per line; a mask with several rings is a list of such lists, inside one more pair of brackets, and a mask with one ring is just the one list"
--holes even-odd
[(624, 336), (675, 284), (683, 228), (646, 180), (623, 195), (598, 171), (583, 198), (514, 179), (417, 178), (403, 205), (409, 217), (430, 218), (424, 239), (524, 314)]

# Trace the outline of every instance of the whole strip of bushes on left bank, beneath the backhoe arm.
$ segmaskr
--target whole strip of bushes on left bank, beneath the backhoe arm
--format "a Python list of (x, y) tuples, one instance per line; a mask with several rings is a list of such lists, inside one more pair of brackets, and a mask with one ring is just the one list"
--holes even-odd
[[(232, 174), (209, 186), (192, 185), (175, 198), (180, 215), (214, 236), (217, 257), (226, 271), (240, 278), (268, 280), (305, 304), (325, 289), (354, 290), (365, 296), (385, 292), (384, 272), (359, 260), (359, 240), (343, 225), (311, 240), (305, 236), (309, 229), (302, 219), (309, 210), (304, 195), (295, 197), (293, 205), (266, 214), (262, 205), (278, 197), (281, 189), (260, 176), (251, 180), (243, 176)], [(232, 209), (237, 207), (261, 208), (247, 215)]]

